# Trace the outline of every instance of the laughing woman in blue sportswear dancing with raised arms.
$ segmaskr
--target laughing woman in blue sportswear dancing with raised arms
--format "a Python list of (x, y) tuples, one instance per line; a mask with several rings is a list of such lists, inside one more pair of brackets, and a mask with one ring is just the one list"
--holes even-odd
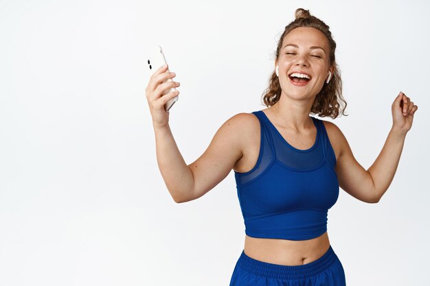
[[(328, 25), (297, 9), (276, 49), (275, 71), (264, 93), (268, 108), (240, 113), (216, 132), (207, 150), (186, 165), (168, 125), (161, 94), (177, 82), (167, 67), (146, 88), (161, 175), (175, 202), (196, 200), (234, 169), (245, 219), (245, 248), (231, 276), (236, 285), (346, 285), (327, 234), (327, 213), (339, 187), (354, 198), (378, 202), (392, 182), (405, 136), (418, 106), (399, 93), (393, 125), (374, 164), (355, 160), (335, 123), (341, 77)], [(345, 102), (346, 107), (346, 102)]]

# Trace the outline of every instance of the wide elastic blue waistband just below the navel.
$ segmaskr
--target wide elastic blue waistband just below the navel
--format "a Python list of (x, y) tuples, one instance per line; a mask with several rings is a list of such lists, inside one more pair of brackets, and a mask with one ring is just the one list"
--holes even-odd
[(337, 259), (337, 255), (331, 245), (322, 257), (304, 265), (280, 265), (267, 263), (247, 256), (247, 254), (245, 254), (245, 250), (242, 250), (242, 254), (240, 254), (238, 259), (238, 265), (242, 270), (261, 276), (297, 279), (306, 278), (324, 272), (324, 270), (335, 263)]

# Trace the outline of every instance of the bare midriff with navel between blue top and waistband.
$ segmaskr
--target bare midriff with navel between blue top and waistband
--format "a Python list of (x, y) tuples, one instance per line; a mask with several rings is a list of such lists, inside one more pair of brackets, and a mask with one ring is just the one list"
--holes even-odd
[(328, 233), (308, 240), (265, 239), (245, 235), (247, 256), (278, 265), (304, 265), (322, 257), (330, 248)]

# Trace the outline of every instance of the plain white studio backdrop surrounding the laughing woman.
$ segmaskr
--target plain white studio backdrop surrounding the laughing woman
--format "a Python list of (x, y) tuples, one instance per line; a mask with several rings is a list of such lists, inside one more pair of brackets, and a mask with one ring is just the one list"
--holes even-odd
[(424, 0), (0, 1), (0, 285), (228, 285), (245, 239), (234, 173), (199, 200), (172, 200), (145, 51), (161, 45), (181, 82), (170, 126), (190, 164), (229, 117), (265, 108), (297, 8), (330, 26), (349, 115), (334, 122), (365, 169), (399, 91), (418, 105), (381, 201), (341, 190), (329, 211), (348, 286), (428, 285)]

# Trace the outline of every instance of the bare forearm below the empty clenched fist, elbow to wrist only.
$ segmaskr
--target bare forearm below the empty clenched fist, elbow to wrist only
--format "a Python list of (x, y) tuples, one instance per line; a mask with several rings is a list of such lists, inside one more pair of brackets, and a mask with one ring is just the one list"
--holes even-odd
[(387, 140), (381, 150), (381, 153), (376, 158), (372, 166), (367, 169), (372, 176), (374, 183), (375, 196), (380, 200), (391, 184), (400, 154), (402, 154), (403, 145), (405, 143), (406, 133), (404, 130), (399, 130), (392, 127), (387, 136)]

